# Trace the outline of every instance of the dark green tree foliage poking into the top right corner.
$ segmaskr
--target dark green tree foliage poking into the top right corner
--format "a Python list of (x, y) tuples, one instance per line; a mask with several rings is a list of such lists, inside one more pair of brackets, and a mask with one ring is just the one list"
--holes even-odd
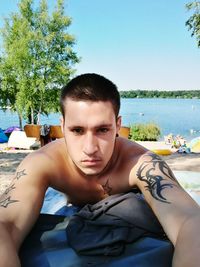
[(186, 26), (190, 31), (191, 35), (196, 37), (197, 45), (200, 47), (200, 2), (194, 1), (186, 5), (187, 10), (193, 10), (193, 14), (186, 21)]

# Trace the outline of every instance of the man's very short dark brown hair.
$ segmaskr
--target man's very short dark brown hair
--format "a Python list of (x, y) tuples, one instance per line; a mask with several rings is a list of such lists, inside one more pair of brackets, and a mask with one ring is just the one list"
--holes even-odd
[(65, 115), (65, 99), (71, 98), (75, 101), (110, 101), (116, 118), (120, 109), (120, 95), (117, 86), (99, 74), (86, 73), (72, 79), (66, 86), (62, 88), (60, 105), (61, 112)]

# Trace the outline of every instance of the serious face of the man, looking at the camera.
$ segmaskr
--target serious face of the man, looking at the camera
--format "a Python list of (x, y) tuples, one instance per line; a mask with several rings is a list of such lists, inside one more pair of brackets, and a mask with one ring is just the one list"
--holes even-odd
[(69, 156), (86, 175), (98, 175), (113, 154), (121, 118), (111, 102), (65, 100), (63, 133)]

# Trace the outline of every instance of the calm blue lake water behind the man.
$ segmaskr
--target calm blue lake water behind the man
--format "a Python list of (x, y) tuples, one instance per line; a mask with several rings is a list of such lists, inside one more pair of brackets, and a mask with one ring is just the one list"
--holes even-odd
[[(122, 124), (157, 123), (162, 137), (181, 134), (187, 140), (200, 136), (200, 99), (122, 99)], [(41, 117), (41, 124), (59, 124), (59, 114)], [(25, 121), (23, 122), (25, 124)], [(0, 127), (18, 125), (17, 114), (0, 110)]]

